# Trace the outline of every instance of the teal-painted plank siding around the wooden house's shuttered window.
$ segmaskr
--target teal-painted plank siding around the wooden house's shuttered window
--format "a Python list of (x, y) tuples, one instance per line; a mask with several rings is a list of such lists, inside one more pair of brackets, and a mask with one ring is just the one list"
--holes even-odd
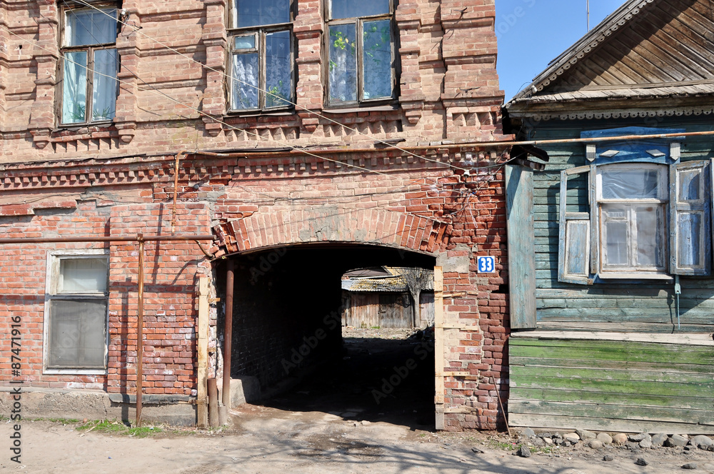
[[(683, 121), (657, 119), (657, 123), (646, 126), (682, 127), (688, 131), (711, 129), (711, 125), (704, 121)], [(583, 130), (628, 125), (641, 126), (642, 123), (548, 121), (538, 125), (537, 138), (578, 138)], [(677, 326), (672, 283), (615, 281), (580, 286), (558, 282), (560, 171), (588, 162), (582, 143), (543, 148), (548, 151), (550, 162), (545, 171), (533, 173), (538, 327), (575, 331), (714, 331), (714, 278), (681, 278), (681, 328)], [(711, 158), (714, 156), (713, 148), (710, 137), (688, 137), (683, 141), (681, 159)], [(569, 181), (568, 211), (588, 210), (587, 187), (585, 179)]]

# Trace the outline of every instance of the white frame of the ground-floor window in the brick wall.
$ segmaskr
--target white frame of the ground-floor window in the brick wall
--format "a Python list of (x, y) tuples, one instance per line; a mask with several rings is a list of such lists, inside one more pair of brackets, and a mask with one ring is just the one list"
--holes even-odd
[[(104, 293), (59, 293), (57, 291), (59, 285), (59, 267), (60, 262), (65, 259), (77, 258), (97, 258), (105, 257), (107, 261), (107, 286)], [(50, 325), (50, 306), (51, 301), (55, 298), (76, 298), (85, 297), (90, 300), (98, 300), (104, 298), (106, 300), (107, 311), (104, 316), (104, 368), (49, 368), (49, 325)], [(44, 324), (43, 324), (43, 341), (42, 341), (42, 373), (47, 375), (105, 375), (108, 371), (107, 356), (109, 355), (109, 251), (101, 248), (91, 249), (68, 249), (61, 251), (49, 251), (47, 253), (47, 266), (45, 273), (45, 298), (44, 298)]]

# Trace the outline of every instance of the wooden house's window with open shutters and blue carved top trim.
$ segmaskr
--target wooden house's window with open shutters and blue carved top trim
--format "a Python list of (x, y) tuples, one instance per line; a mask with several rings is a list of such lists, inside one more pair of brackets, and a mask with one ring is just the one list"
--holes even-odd
[[(585, 138), (681, 130), (621, 128)], [(679, 144), (603, 142), (560, 179), (558, 280), (670, 279), (711, 273), (713, 163), (680, 163)]]

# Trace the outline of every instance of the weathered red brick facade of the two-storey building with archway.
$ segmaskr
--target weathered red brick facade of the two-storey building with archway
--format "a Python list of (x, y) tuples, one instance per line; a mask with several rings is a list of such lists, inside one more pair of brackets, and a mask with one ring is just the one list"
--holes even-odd
[[(193, 242), (146, 243), (145, 393), (196, 395), (198, 278), (210, 276), (215, 291), (224, 257), (354, 243), (443, 266), (444, 428), (496, 428), (497, 395), (506, 400), (508, 391), (508, 275), (503, 171), (493, 166), (508, 147), (483, 143), (508, 137), (493, 1), (400, 1), (397, 100), (326, 110), (324, 2), (298, 0), (295, 111), (240, 115), (227, 113), (226, 0), (125, 0), (116, 117), (57, 128), (61, 6), (0, 5), (11, 31), (0, 29), (0, 238), (169, 235), (172, 223), (176, 233), (216, 236), (205, 246), (213, 261)], [(106, 373), (44, 368), (48, 251), (64, 248), (109, 254)], [(476, 256), (486, 255), (496, 257), (496, 273), (477, 272)], [(0, 329), (23, 318), (27, 385), (136, 393), (138, 256), (136, 242), (0, 246)], [(218, 376), (221, 305), (213, 303), (209, 339), (209, 375)], [(237, 330), (253, 328), (256, 347), (273, 341), (258, 359), (274, 372), (271, 353), (287, 353), (297, 330), (278, 338), (265, 321), (241, 321)], [(8, 338), (0, 351), (8, 353)], [(7, 385), (5, 358), (0, 369)]]

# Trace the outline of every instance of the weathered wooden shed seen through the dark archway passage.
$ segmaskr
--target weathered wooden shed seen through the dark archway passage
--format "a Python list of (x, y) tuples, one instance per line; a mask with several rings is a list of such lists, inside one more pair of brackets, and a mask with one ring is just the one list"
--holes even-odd
[(348, 271), (342, 277), (342, 302), (342, 326), (426, 328), (434, 323), (434, 274), (388, 266)]

